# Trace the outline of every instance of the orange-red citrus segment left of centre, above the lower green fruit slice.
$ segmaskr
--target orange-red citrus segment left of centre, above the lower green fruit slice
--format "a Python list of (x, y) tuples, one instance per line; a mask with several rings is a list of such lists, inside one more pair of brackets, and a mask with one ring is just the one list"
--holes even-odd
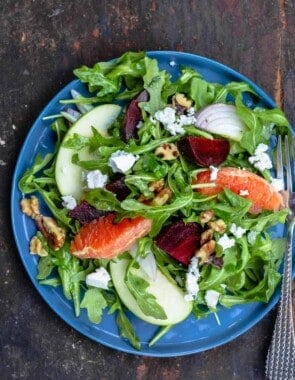
[(71, 254), (81, 259), (112, 259), (147, 235), (152, 221), (138, 216), (114, 223), (114, 214), (85, 224), (71, 242)]

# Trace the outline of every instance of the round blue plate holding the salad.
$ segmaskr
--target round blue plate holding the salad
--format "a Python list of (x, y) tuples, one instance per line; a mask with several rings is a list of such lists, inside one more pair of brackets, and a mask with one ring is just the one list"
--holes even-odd
[[(156, 58), (161, 69), (170, 72), (174, 79), (178, 76), (180, 65), (186, 65), (200, 72), (210, 82), (225, 84), (230, 81), (245, 81), (257, 92), (262, 106), (275, 107), (273, 100), (259, 87), (243, 75), (220, 63), (200, 56), (173, 51), (153, 51), (148, 54), (150, 57)], [(142, 344), (141, 351), (138, 352), (120, 338), (114, 315), (104, 313), (103, 320), (99, 325), (89, 322), (84, 310), (82, 310), (81, 316), (76, 318), (72, 303), (65, 299), (60, 288), (55, 289), (38, 284), (36, 281), (37, 258), (29, 253), (29, 241), (36, 232), (35, 224), (20, 211), (19, 202), (22, 193), (17, 184), (24, 171), (32, 165), (37, 153), (44, 155), (53, 151), (54, 135), (49, 129), (51, 121), (44, 121), (42, 118), (59, 113), (61, 109), (59, 100), (70, 98), (71, 89), (87, 93), (84, 85), (80, 81), (74, 80), (48, 103), (27, 135), (12, 182), (11, 214), (14, 236), (21, 260), (40, 295), (67, 324), (80, 333), (105, 346), (136, 355), (172, 357), (197, 353), (229, 342), (250, 329), (276, 304), (279, 290), (275, 292), (268, 304), (252, 303), (235, 306), (231, 309), (221, 308), (218, 312), (221, 325), (216, 323), (213, 315), (202, 320), (196, 320), (191, 316), (175, 326), (151, 348), (148, 347), (148, 341), (154, 336), (157, 327), (130, 314), (131, 322)], [(281, 226), (276, 227), (274, 232), (280, 235), (282, 233)]]

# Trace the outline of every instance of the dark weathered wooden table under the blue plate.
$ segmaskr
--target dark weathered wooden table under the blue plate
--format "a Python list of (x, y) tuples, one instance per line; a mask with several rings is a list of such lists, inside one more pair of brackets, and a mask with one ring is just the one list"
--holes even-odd
[(294, 124), (294, 0), (2, 0), (0, 25), (1, 379), (264, 379), (276, 310), (222, 347), (177, 358), (121, 353), (72, 330), (21, 264), (10, 185), (34, 119), (72, 70), (126, 50), (218, 60), (261, 86)]

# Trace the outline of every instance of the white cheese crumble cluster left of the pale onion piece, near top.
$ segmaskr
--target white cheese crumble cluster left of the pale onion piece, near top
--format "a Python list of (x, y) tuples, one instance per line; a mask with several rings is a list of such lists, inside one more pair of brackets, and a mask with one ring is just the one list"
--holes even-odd
[(171, 107), (165, 107), (164, 109), (157, 111), (154, 115), (154, 119), (162, 123), (164, 129), (173, 136), (177, 134), (183, 135), (185, 133), (183, 126), (194, 124), (196, 120), (193, 113), (177, 117), (176, 110)]

